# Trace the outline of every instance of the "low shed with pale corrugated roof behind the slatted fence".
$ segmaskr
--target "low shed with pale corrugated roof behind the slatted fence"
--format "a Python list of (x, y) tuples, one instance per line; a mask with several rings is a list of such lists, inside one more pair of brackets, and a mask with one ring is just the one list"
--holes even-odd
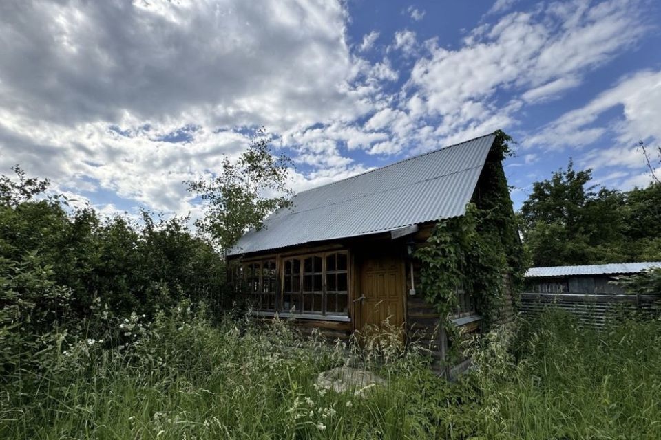
[(652, 267), (661, 267), (661, 261), (531, 267), (524, 275), (525, 290), (533, 293), (624, 294), (622, 287), (610, 282)]

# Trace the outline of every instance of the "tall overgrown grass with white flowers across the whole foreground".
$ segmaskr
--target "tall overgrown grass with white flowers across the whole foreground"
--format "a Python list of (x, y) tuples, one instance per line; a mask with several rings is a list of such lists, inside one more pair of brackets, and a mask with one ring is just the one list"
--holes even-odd
[[(39, 368), (2, 378), (0, 439), (661, 438), (658, 320), (521, 321), (474, 340), (457, 382), (398, 338), (351, 353), (186, 307), (109, 327), (101, 341), (56, 333)], [(364, 397), (315, 386), (349, 356), (387, 384)]]

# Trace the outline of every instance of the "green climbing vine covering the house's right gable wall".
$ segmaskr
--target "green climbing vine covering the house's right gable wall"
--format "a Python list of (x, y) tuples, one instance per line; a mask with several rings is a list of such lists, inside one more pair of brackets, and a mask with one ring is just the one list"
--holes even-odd
[(439, 221), (416, 253), (422, 263), (421, 290), (450, 336), (457, 331), (449, 320), (457, 307), (457, 289), (476, 298), (488, 329), (503, 305), (503, 274), (512, 275), (515, 289), (523, 279), (523, 249), (502, 166), (511, 154), (512, 138), (502, 131), (494, 135), (496, 140), (465, 215)]

